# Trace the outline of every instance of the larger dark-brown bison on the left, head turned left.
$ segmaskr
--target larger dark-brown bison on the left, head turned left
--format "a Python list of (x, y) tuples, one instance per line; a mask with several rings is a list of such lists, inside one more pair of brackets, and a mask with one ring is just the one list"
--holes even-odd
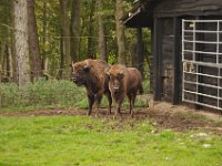
[(72, 80), (78, 85), (83, 85), (87, 89), (87, 95), (89, 101), (89, 112), (88, 115), (92, 112), (92, 106), (95, 103), (97, 113), (100, 107), (102, 95), (105, 94), (109, 101), (109, 108), (107, 114), (111, 113), (112, 97), (109, 91), (108, 76), (104, 73), (104, 70), (108, 68), (108, 64), (101, 60), (84, 60), (81, 62), (72, 62)]

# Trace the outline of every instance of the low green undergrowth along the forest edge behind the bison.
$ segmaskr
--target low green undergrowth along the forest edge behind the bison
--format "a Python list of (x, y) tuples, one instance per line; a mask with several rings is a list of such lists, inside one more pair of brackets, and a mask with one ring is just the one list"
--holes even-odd
[[(145, 81), (144, 90), (147, 89)], [(145, 90), (147, 92), (147, 90)], [(24, 95), (26, 94), (26, 95)], [(138, 100), (139, 106), (145, 106)], [(141, 104), (142, 103), (142, 104)], [(107, 97), (103, 97), (102, 106), (107, 106)], [(22, 91), (14, 83), (0, 84), (0, 108), (8, 111), (23, 111), (49, 107), (88, 107), (88, 98), (84, 87), (77, 86), (65, 80), (39, 80), (27, 84)]]

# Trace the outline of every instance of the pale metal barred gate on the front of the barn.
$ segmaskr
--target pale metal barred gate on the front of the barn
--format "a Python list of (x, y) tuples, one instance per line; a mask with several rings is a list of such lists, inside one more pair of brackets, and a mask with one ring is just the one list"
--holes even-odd
[(182, 101), (222, 111), (222, 20), (182, 21)]

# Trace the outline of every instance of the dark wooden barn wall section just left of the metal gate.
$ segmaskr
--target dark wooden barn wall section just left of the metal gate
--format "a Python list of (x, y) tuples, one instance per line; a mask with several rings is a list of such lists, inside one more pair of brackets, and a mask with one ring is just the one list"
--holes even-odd
[[(154, 42), (154, 98), (173, 103), (181, 101), (181, 20), (174, 18), (155, 19)], [(157, 31), (158, 29), (158, 31)]]

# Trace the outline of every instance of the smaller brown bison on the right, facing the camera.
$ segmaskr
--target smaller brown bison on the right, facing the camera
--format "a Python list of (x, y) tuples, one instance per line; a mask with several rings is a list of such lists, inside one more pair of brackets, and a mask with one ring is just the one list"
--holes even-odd
[(112, 65), (107, 70), (109, 75), (109, 89), (113, 101), (117, 103), (114, 117), (120, 115), (122, 102), (128, 96), (130, 101), (130, 114), (133, 116), (133, 106), (138, 91), (143, 93), (142, 76), (135, 68), (125, 68), (121, 64)]

